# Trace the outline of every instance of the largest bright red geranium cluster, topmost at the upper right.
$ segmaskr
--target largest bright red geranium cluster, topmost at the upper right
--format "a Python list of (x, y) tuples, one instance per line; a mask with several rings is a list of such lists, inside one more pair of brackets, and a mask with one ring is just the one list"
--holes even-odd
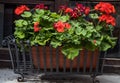
[(100, 2), (99, 4), (97, 4), (95, 6), (95, 10), (99, 10), (99, 11), (106, 13), (106, 14), (115, 13), (114, 6), (110, 3), (105, 3), (105, 2)]

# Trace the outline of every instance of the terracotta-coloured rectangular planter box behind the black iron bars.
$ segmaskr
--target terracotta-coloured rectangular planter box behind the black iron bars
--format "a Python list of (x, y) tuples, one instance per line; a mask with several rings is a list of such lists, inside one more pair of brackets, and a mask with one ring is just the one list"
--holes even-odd
[[(59, 69), (63, 69), (64, 64), (66, 64), (65, 66), (66, 69), (69, 69), (71, 65), (70, 63), (71, 60), (66, 59), (65, 61), (66, 63), (64, 63), (65, 60), (64, 55), (60, 52), (60, 49), (61, 48), (55, 49), (49, 46), (46, 47), (38, 46), (38, 48), (35, 46), (32, 47), (32, 58), (34, 66), (36, 68), (38, 68), (39, 66), (40, 69), (44, 69), (44, 66), (46, 65), (46, 68), (50, 69), (50, 66), (52, 64), (53, 69), (55, 69), (57, 65)], [(83, 69), (83, 67), (86, 66), (86, 68), (88, 69), (92, 65), (92, 68), (95, 69), (97, 65), (98, 56), (99, 56), (98, 50), (95, 50), (94, 52), (82, 50), (80, 51), (80, 57), (78, 56), (72, 61), (72, 68), (75, 69), (79, 66), (80, 69)]]

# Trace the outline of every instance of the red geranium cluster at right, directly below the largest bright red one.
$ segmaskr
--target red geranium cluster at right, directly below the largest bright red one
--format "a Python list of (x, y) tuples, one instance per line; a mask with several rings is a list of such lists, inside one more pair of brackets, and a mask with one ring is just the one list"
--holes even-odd
[(115, 18), (108, 14), (103, 14), (100, 16), (99, 21), (105, 21), (107, 24), (115, 26)]

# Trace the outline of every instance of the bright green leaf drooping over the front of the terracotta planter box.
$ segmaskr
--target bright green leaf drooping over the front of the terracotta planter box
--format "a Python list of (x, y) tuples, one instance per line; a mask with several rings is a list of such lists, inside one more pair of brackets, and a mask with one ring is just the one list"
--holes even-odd
[(62, 53), (68, 58), (73, 60), (76, 56), (79, 55), (79, 49), (74, 47), (63, 47)]

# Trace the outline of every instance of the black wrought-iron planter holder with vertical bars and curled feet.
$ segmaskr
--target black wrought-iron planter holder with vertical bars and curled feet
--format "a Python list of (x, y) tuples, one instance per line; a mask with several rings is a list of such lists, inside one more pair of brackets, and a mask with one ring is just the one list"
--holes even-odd
[[(33, 47), (30, 46), (29, 41), (20, 42), (20, 44), (16, 44), (15, 38), (13, 35), (5, 38), (5, 42), (7, 42), (9, 53), (12, 61), (12, 67), (14, 72), (20, 74), (21, 77), (18, 77), (18, 81), (24, 81), (26, 75), (54, 75), (54, 74), (62, 74), (62, 75), (91, 75), (93, 79), (93, 83), (96, 83), (95, 77), (97, 75), (101, 75), (103, 73), (103, 65), (104, 65), (104, 56), (105, 53), (99, 52), (96, 65), (94, 65), (95, 52), (91, 52), (90, 60), (88, 62), (87, 57), (89, 56), (89, 51), (84, 51), (83, 58), (83, 67), (81, 64), (81, 53), (77, 57), (76, 61), (67, 60), (66, 57), (63, 56), (62, 60), (62, 68), (60, 66), (60, 48), (57, 48), (55, 52), (54, 48), (51, 46), (43, 46), (39, 48), (39, 45), (34, 46), (34, 53), (32, 52)], [(27, 50), (26, 50), (27, 47)], [(49, 47), (49, 50), (48, 50)], [(42, 54), (41, 54), (42, 53)], [(49, 53), (49, 54), (48, 54)], [(33, 54), (35, 54), (35, 60), (33, 59)], [(55, 54), (55, 58), (53, 58), (53, 54)], [(39, 55), (42, 55), (39, 56)], [(47, 62), (49, 56), (49, 63)], [(42, 59), (40, 59), (42, 58)], [(102, 59), (101, 59), (102, 58)], [(42, 61), (40, 61), (42, 60)], [(55, 62), (54, 62), (55, 61)], [(34, 63), (36, 62), (36, 64)], [(89, 63), (89, 66), (86, 64)], [(41, 66), (43, 65), (43, 67)], [(55, 65), (53, 65), (55, 64)], [(67, 67), (69, 64), (69, 68)], [(74, 67), (76, 65), (76, 67)], [(49, 66), (49, 67), (47, 67)], [(98, 81), (97, 81), (98, 82)]]

